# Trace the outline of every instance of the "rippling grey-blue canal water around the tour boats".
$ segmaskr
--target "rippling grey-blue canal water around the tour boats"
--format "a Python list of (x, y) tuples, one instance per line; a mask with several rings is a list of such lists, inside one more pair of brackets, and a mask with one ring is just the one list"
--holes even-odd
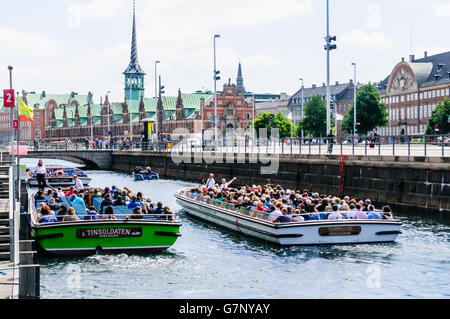
[(188, 217), (173, 194), (191, 183), (89, 174), (91, 186), (127, 186), (170, 206), (182, 237), (158, 255), (41, 259), (42, 298), (450, 297), (448, 218), (399, 216), (392, 244), (281, 248)]

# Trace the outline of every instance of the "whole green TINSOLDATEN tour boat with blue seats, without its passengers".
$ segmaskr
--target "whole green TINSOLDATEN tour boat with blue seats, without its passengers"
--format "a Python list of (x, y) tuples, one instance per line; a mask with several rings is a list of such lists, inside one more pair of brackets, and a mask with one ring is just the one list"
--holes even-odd
[[(141, 215), (136, 219), (126, 206), (114, 207), (115, 219), (98, 219), (88, 215), (85, 209), (72, 205), (63, 199), (62, 205), (74, 207), (77, 221), (39, 223), (41, 203), (48, 205), (47, 199), (29, 198), (31, 210), (32, 236), (39, 249), (50, 255), (72, 256), (93, 254), (147, 254), (159, 253), (172, 246), (178, 237), (181, 223), (175, 215)], [(93, 198), (89, 192), (89, 205), (100, 206), (102, 198)], [(54, 217), (55, 218), (55, 217)]]

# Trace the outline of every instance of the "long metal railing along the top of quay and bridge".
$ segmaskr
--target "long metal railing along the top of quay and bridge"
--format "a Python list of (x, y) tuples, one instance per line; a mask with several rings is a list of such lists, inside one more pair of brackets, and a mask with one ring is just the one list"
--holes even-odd
[[(446, 135), (388, 135), (388, 136), (361, 136), (352, 139), (352, 136), (333, 138), (306, 137), (306, 138), (274, 138), (252, 139), (250, 137), (229, 137), (219, 142), (215, 149), (215, 142), (189, 140), (173, 141), (173, 146), (167, 143), (133, 143), (130, 146), (113, 145), (102, 148), (86, 147), (83, 143), (70, 145), (41, 144), (39, 151), (147, 151), (147, 152), (219, 152), (244, 154), (284, 154), (284, 155), (365, 155), (365, 156), (450, 156), (450, 134)], [(34, 147), (29, 146), (29, 151)]]

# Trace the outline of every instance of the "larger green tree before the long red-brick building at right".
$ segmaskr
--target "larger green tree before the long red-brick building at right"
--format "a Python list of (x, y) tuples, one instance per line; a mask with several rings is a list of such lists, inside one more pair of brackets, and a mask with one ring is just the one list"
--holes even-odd
[[(358, 134), (367, 134), (376, 127), (386, 126), (388, 112), (386, 104), (380, 102), (380, 92), (371, 84), (366, 84), (356, 94), (356, 122), (360, 123), (357, 128)], [(354, 108), (353, 105), (342, 121), (342, 130), (353, 132)]]

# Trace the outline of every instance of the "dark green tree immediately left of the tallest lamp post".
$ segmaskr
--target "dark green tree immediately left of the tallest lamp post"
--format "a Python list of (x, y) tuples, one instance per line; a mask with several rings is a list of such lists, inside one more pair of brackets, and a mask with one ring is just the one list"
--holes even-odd
[[(306, 135), (310, 135), (312, 137), (328, 135), (327, 107), (321, 96), (317, 95), (311, 98), (311, 100), (306, 104), (304, 114), (305, 118), (299, 127), (303, 128)], [(299, 131), (301, 134), (301, 129)]]

